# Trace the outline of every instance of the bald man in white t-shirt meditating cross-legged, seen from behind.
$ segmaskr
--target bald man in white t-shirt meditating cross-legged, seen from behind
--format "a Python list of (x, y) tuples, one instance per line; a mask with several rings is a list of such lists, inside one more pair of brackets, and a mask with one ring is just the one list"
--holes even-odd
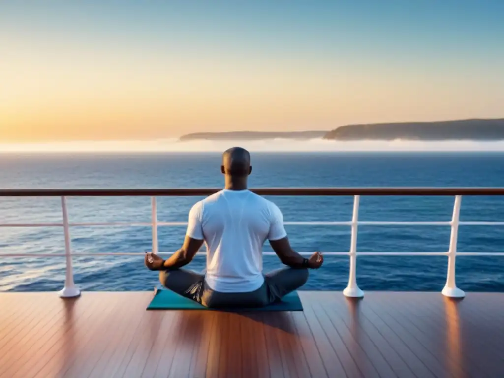
[[(147, 254), (145, 264), (160, 270), (168, 289), (208, 307), (259, 307), (279, 301), (304, 285), (308, 268), (318, 269), (318, 252), (304, 259), (290, 246), (280, 209), (247, 190), (250, 154), (235, 147), (224, 152), (224, 190), (198, 202), (189, 213), (183, 246), (168, 260)], [(268, 239), (287, 265), (263, 275), (263, 244)], [(207, 245), (206, 273), (180, 269)]]

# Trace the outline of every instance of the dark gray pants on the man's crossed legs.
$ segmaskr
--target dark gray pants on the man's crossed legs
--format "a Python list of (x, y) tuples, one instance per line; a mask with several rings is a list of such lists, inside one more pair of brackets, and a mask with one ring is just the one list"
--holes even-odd
[(222, 293), (205, 284), (205, 275), (190, 270), (175, 269), (159, 273), (167, 289), (207, 307), (262, 307), (303, 286), (308, 279), (306, 268), (282, 268), (264, 276), (264, 284), (255, 291)]

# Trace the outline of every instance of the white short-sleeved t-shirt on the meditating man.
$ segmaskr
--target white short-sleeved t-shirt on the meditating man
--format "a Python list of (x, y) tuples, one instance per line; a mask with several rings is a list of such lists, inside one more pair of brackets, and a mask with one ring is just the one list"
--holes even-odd
[(280, 209), (248, 190), (223, 190), (193, 206), (187, 235), (205, 240), (206, 284), (220, 292), (248, 292), (264, 283), (263, 244), (287, 236)]

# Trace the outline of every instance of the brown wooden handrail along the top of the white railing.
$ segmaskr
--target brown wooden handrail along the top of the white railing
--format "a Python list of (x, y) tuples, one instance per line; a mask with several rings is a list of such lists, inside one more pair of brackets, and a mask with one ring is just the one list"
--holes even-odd
[[(0, 197), (209, 196), (221, 188), (2, 189)], [(504, 196), (504, 187), (264, 187), (262, 196)]]

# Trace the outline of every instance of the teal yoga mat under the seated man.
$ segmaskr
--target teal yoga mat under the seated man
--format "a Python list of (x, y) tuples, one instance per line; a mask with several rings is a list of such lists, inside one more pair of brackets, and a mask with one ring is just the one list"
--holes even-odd
[(208, 308), (194, 300), (184, 298), (170, 290), (158, 290), (152, 298), (148, 310), (219, 310), (232, 312), (250, 311), (302, 311), (299, 295), (294, 291), (282, 298), (281, 302), (257, 308)]

